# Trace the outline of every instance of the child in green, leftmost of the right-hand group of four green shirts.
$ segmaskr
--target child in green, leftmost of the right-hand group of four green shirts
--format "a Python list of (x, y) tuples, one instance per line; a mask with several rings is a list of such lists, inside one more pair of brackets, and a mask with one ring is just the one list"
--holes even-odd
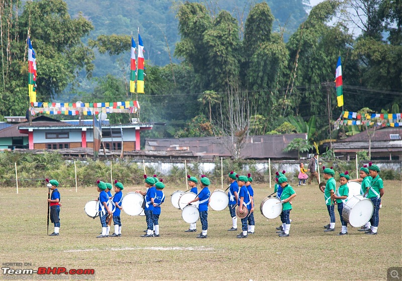
[(324, 232), (328, 231), (335, 231), (335, 212), (334, 212), (334, 204), (332, 202), (333, 198), (332, 196), (336, 192), (336, 182), (334, 179), (335, 171), (332, 170), (331, 168), (325, 168), (323, 166), (324, 170), (324, 179), (327, 180), (327, 184), (325, 185), (325, 190), (324, 190), (324, 199), (325, 199), (325, 204), (327, 205), (327, 210), (328, 214), (330, 215), (330, 223), (327, 225), (324, 225)]

